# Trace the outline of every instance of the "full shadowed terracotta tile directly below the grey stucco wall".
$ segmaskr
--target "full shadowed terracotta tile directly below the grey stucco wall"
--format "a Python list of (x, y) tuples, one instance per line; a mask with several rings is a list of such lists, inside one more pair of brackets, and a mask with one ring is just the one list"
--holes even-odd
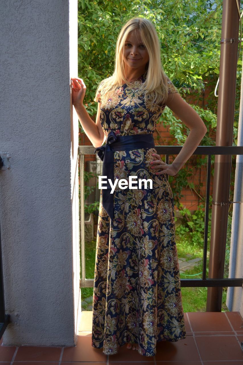
[(61, 347), (20, 346), (14, 361), (59, 361)]

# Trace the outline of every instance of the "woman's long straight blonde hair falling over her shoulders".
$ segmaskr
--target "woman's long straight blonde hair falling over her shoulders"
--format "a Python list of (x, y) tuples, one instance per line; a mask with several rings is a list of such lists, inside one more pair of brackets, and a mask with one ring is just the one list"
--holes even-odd
[(145, 100), (147, 97), (152, 103), (161, 105), (168, 96), (168, 78), (163, 70), (160, 56), (160, 44), (157, 32), (153, 23), (145, 18), (134, 17), (128, 20), (121, 28), (115, 51), (115, 71), (112, 76), (102, 80), (97, 89), (96, 95), (101, 91), (102, 102), (107, 102), (109, 93), (115, 91), (118, 87), (121, 87), (122, 81), (128, 82), (124, 73), (124, 44), (127, 36), (131, 31), (138, 30), (144, 46), (149, 55), (149, 61), (145, 66), (145, 81), (142, 83), (140, 92), (144, 94)]

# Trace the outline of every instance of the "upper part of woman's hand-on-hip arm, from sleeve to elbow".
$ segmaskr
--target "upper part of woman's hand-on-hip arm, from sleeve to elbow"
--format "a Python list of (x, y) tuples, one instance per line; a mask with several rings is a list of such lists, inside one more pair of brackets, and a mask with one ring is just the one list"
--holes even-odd
[(207, 127), (201, 117), (179, 93), (168, 94), (165, 105), (170, 108), (188, 128), (200, 128), (207, 131)]

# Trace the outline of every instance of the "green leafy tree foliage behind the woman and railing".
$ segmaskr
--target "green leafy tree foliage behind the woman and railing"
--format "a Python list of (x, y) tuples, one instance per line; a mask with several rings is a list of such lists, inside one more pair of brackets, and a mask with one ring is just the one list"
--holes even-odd
[[(90, 115), (97, 112), (97, 103), (93, 99), (98, 83), (113, 73), (120, 28), (134, 16), (144, 17), (150, 19), (157, 30), (166, 74), (184, 99), (196, 93), (197, 104), (203, 105), (191, 104), (208, 129), (200, 145), (215, 145), (217, 97), (214, 89), (219, 77), (222, 10), (221, 0), (78, 0), (78, 77), (84, 80), (87, 87), (84, 102)], [(241, 60), (242, 50), (236, 75), (233, 145), (237, 144)], [(207, 86), (212, 87), (212, 92), (205, 99)], [(185, 142), (189, 130), (172, 115), (169, 108), (165, 108), (158, 123), (170, 126), (175, 144)], [(207, 157), (194, 155), (188, 162), (193, 162), (195, 168), (206, 169)], [(200, 195), (200, 183), (198, 187), (190, 183), (190, 176), (193, 179), (196, 170), (188, 166), (188, 163), (185, 164), (176, 179), (173, 178), (177, 207), (180, 207), (183, 187), (193, 188), (201, 201), (205, 199)]]

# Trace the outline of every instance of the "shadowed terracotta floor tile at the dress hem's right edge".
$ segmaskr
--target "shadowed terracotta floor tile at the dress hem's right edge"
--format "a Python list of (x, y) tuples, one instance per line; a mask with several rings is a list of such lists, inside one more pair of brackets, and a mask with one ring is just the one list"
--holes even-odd
[(156, 346), (158, 361), (200, 361), (193, 336), (181, 339), (177, 342), (162, 341)]

